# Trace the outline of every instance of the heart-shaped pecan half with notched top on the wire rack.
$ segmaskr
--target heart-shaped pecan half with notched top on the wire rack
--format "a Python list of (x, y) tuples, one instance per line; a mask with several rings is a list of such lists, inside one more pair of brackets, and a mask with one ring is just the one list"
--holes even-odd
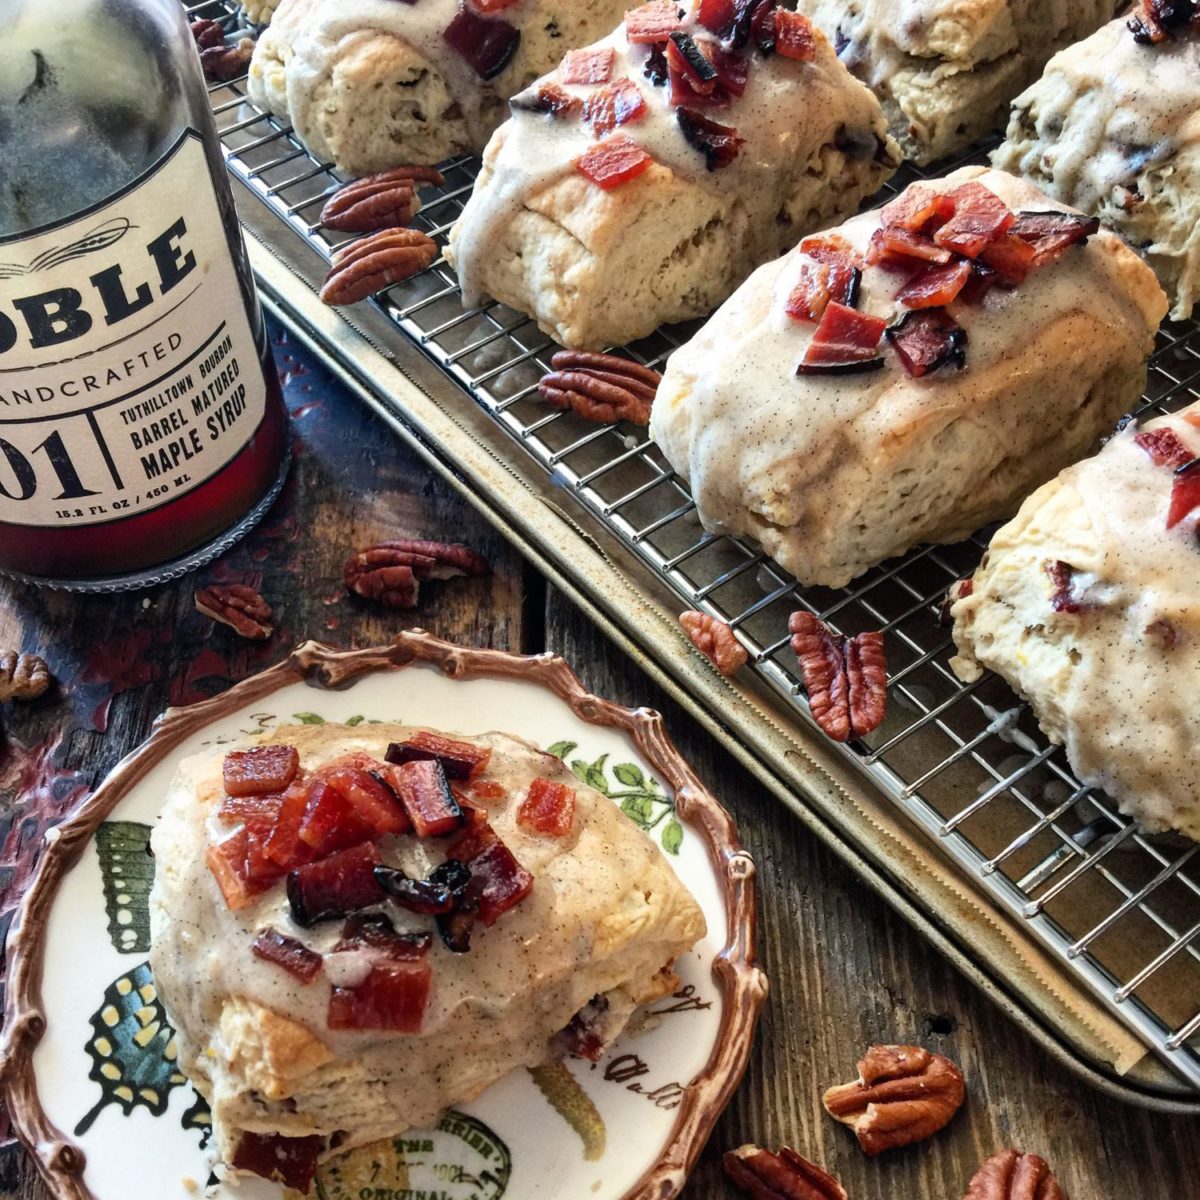
[(841, 637), (810, 612), (787, 622), (812, 719), (835, 742), (860, 738), (883, 721), (888, 664), (880, 632)]

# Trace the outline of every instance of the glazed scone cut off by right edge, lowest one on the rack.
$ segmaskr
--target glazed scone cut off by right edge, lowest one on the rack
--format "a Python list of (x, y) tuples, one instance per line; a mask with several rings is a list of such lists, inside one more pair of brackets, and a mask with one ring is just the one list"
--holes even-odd
[[(1190, 464), (1190, 466), (1189, 466)], [(950, 613), (1080, 781), (1200, 840), (1200, 404), (1128, 424), (997, 530)]]

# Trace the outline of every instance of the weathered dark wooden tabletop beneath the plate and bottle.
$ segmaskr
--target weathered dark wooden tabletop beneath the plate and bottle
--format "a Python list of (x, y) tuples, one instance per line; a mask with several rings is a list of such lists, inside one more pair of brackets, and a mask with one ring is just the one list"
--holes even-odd
[[(0, 649), (43, 655), (58, 689), (0, 714), (0, 914), (7, 929), (46, 826), (94, 787), (168, 704), (214, 695), (312, 637), (384, 642), (421, 625), (475, 646), (563, 654), (600, 695), (664, 712), (758, 863), (760, 954), (770, 977), (749, 1073), (685, 1190), (731, 1194), (720, 1154), (786, 1142), (824, 1163), (851, 1200), (959, 1200), (982, 1158), (1036, 1151), (1074, 1200), (1200, 1200), (1200, 1121), (1127, 1108), (1066, 1073), (965, 983), (810, 836), (726, 750), (690, 724), (416, 455), (275, 335), (294, 420), (295, 466), (264, 523), (214, 566), (168, 587), (80, 598), (0, 583)], [(461, 539), (487, 578), (431, 587), (413, 612), (342, 588), (353, 547), (384, 536)], [(275, 606), (265, 644), (196, 612), (203, 581), (245, 581)], [(948, 1129), (880, 1159), (821, 1109), (871, 1042), (918, 1042), (964, 1069)], [(46, 1192), (19, 1146), (0, 1151), (0, 1196)], [(523, 1200), (515, 1196), (512, 1200)], [(578, 1198), (563, 1198), (578, 1200)]]

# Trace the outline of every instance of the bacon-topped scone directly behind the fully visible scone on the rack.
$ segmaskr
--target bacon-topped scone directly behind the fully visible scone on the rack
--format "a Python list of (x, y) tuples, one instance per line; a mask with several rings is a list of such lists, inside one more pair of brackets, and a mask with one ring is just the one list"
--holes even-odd
[(643, 5), (511, 107), (446, 257), (468, 302), (584, 349), (707, 314), (899, 161), (875, 97), (774, 0)]

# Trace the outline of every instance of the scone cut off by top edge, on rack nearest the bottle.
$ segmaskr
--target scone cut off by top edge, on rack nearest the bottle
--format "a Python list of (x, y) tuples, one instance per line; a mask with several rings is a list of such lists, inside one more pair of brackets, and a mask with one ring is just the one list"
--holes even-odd
[(624, 0), (280, 0), (247, 86), (310, 152), (355, 175), (478, 154), (505, 101)]

